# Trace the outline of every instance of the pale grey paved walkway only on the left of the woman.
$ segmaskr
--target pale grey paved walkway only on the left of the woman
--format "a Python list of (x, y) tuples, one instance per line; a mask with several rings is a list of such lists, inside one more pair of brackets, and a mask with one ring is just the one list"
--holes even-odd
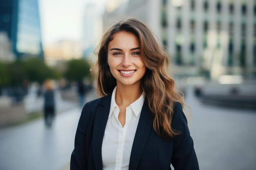
[[(96, 97), (95, 91), (87, 100)], [(70, 160), (81, 108), (56, 115), (51, 129), (43, 119), (0, 130), (0, 170), (60, 170)]]

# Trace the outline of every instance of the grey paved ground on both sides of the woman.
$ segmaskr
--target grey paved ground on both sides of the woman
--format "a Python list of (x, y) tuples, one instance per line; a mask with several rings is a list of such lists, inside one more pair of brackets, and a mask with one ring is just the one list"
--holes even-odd
[[(87, 101), (96, 97), (88, 95)], [(187, 88), (189, 128), (201, 170), (256, 169), (255, 110), (202, 104)], [(43, 119), (0, 130), (0, 170), (60, 170), (67, 165), (81, 109), (56, 116), (52, 129)]]

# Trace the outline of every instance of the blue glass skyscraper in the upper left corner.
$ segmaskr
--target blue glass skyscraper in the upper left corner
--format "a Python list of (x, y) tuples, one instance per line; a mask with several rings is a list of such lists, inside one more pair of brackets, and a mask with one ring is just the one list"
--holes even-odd
[(7, 33), (18, 60), (43, 57), (38, 0), (1, 0), (0, 31)]

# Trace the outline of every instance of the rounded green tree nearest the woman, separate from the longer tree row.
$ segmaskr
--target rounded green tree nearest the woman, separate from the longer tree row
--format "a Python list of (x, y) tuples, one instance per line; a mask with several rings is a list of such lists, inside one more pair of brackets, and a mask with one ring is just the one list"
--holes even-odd
[(70, 81), (77, 81), (90, 75), (90, 66), (86, 60), (75, 59), (67, 62), (65, 78)]

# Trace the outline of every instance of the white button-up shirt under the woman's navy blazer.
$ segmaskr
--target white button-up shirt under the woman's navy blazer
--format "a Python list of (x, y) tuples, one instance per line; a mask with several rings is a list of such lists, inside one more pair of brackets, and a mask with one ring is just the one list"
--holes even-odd
[[(135, 132), (138, 126), (144, 96), (141, 96), (126, 108), (124, 127), (118, 120), (119, 107), (115, 102), (117, 87), (115, 87), (110, 105), (108, 122), (102, 142), (103, 170), (128, 170), (130, 154)], [(120, 113), (120, 114), (124, 114)]]

